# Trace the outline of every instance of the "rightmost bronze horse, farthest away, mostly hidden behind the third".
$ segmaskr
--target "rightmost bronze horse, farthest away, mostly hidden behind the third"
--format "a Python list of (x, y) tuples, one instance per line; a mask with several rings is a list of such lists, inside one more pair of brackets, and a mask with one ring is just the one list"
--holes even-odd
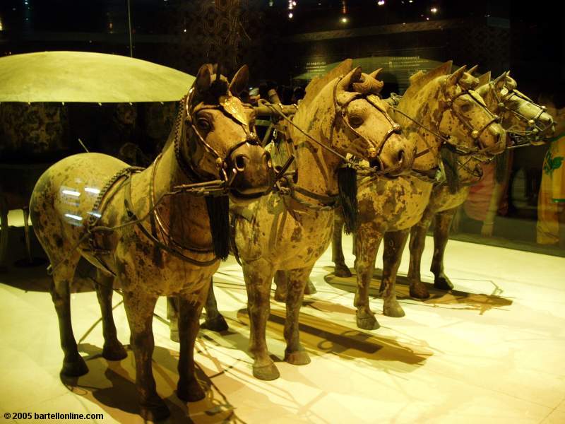
[[(516, 90), (516, 81), (504, 72), (498, 78), (490, 81), (490, 73), (479, 78), (477, 93), (484, 99), (489, 110), (501, 117), (501, 124), (506, 129), (507, 139), (510, 141), (513, 134), (519, 139), (530, 138), (533, 143), (543, 143), (543, 137), (553, 132), (552, 116), (545, 112), (545, 107), (536, 105), (527, 96)], [(506, 143), (510, 146), (511, 143)], [(497, 156), (499, 160), (501, 156)], [(506, 165), (497, 164), (504, 167)], [(470, 186), (480, 181), (482, 172), (480, 161), (475, 158), (457, 158), (456, 163), (446, 163), (458, 172), (454, 184), (436, 184), (432, 190), (429, 203), (416, 225), (410, 230), (410, 266), (408, 280), (410, 281), (410, 295), (415, 298), (427, 299), (429, 293), (420, 278), (420, 261), (426, 239), (426, 232), (432, 219), (434, 225), (434, 256), (430, 271), (434, 273), (434, 287), (440, 290), (451, 290), (453, 283), (444, 273), (444, 253), (449, 237), (451, 221), (458, 207), (463, 204), (469, 194)], [(498, 183), (493, 194), (496, 208), (501, 197), (501, 186)], [(494, 220), (494, 216), (487, 217)]]

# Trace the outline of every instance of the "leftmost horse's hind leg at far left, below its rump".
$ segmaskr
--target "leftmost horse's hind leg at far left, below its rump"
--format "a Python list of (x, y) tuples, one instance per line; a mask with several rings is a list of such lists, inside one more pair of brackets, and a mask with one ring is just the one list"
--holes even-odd
[(53, 281), (51, 283), (51, 298), (53, 300), (57, 318), (59, 319), (59, 335), (61, 337), (61, 348), (64, 359), (61, 374), (69, 377), (78, 377), (88, 372), (88, 367), (83, 357), (78, 353), (73, 325), (71, 324), (71, 282), (78, 264), (80, 254), (74, 252), (66, 261), (51, 261), (52, 264), (59, 263), (53, 269)]

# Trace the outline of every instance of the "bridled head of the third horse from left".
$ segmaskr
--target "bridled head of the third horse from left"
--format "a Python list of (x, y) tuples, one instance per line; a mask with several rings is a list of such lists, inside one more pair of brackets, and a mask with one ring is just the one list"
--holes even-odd
[(456, 151), (474, 151), (476, 155), (501, 153), (505, 132), (500, 118), (489, 111), (475, 91), (478, 78), (465, 72), (466, 66), (441, 77), (439, 104), (444, 113), (439, 122), (441, 134), (448, 134), (448, 145)]

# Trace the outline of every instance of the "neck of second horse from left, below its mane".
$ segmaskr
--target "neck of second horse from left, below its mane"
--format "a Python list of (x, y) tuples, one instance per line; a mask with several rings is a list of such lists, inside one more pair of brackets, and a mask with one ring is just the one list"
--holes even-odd
[[(333, 101), (333, 97), (330, 100)], [(320, 101), (317, 102), (318, 105), (319, 103)], [(333, 107), (331, 114), (322, 112), (323, 110), (325, 110), (323, 107), (310, 108), (309, 110), (299, 109), (294, 121), (297, 126), (306, 130), (314, 139), (329, 146), (330, 140), (324, 134), (330, 134), (333, 131), (335, 114), (333, 113)], [(316, 194), (328, 196), (337, 194), (338, 179), (336, 171), (341, 165), (342, 159), (314, 143), (314, 141), (311, 141), (299, 131), (292, 132), (294, 133), (292, 143), (295, 146), (295, 161), (298, 174), (297, 184)], [(343, 136), (343, 133), (338, 135), (338, 132), (334, 131), (333, 136), (334, 138)]]

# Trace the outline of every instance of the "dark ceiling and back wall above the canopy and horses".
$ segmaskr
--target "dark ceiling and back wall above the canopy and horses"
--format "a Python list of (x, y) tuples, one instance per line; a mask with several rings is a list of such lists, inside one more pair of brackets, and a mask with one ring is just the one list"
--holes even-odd
[[(313, 61), (420, 57), (511, 69), (532, 97), (565, 80), (565, 2), (297, 0), (2, 0), (0, 55), (83, 50), (196, 73), (249, 64), (253, 82), (291, 84)], [(438, 9), (432, 13), (432, 7)], [(347, 18), (347, 23), (342, 18)], [(429, 20), (427, 20), (429, 18)]]

